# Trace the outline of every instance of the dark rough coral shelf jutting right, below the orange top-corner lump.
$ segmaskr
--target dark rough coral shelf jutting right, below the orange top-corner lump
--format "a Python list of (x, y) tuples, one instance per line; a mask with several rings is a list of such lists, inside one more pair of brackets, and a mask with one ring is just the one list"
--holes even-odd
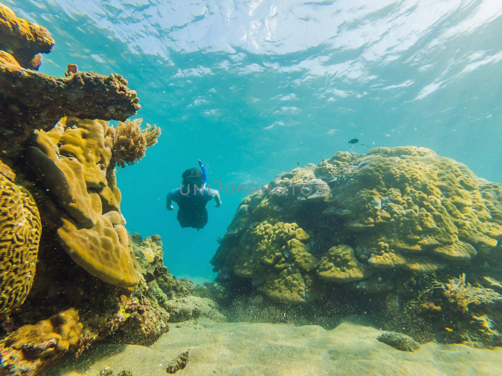
[[(141, 108), (136, 92), (120, 75), (77, 72), (55, 78), (6, 64), (0, 59), (0, 132), (9, 135), (0, 148), (24, 145), (34, 129), (49, 130), (61, 117), (124, 120)], [(29, 116), (27, 116), (29, 114)], [(20, 126), (21, 125), (21, 126)]]

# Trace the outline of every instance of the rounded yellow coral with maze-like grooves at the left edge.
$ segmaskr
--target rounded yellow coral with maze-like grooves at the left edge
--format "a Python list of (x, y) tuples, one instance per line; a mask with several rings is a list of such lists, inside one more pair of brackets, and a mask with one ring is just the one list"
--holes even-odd
[(0, 314), (21, 305), (35, 275), (42, 231), (37, 205), (0, 161)]

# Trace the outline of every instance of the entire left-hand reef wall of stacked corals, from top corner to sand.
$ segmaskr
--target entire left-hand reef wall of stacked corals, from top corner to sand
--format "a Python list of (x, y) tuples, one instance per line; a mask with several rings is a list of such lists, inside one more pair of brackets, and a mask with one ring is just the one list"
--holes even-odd
[(53, 45), (0, 4), (1, 375), (45, 374), (103, 338), (152, 343), (168, 302), (194, 291), (164, 266), (160, 237), (130, 236), (120, 211), (115, 167), (160, 129), (126, 120), (141, 106), (120, 75), (37, 72)]

